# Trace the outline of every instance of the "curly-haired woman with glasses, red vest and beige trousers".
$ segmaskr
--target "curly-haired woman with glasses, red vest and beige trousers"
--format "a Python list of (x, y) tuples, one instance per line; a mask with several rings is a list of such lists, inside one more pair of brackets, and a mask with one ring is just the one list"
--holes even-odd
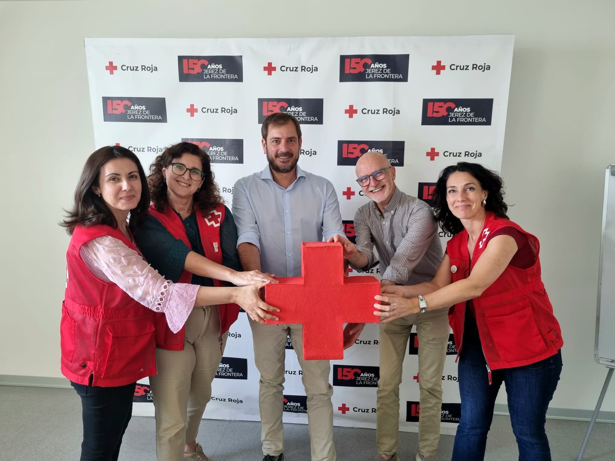
[[(165, 149), (149, 168), (153, 205), (131, 229), (151, 265), (172, 282), (244, 286), (277, 281), (258, 270), (240, 272), (237, 230), (222, 202), (207, 154), (196, 144)], [(262, 309), (248, 307), (261, 323)], [(185, 328), (173, 333), (156, 318), (158, 374), (149, 383), (156, 411), (159, 461), (210, 460), (196, 443), (200, 420), (212, 396), (228, 329), (239, 306), (207, 303), (192, 310)]]

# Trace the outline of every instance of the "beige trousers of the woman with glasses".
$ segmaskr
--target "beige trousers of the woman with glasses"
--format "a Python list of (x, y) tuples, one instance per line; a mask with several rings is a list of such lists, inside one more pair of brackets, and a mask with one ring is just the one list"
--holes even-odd
[(156, 348), (158, 374), (149, 377), (156, 411), (158, 461), (183, 461), (184, 445), (196, 439), (212, 398), (226, 336), (220, 339), (217, 305), (195, 307), (186, 321), (184, 350)]

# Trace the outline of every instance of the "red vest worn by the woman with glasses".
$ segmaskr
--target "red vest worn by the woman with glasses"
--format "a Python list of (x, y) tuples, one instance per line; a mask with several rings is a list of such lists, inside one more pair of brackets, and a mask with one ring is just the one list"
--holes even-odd
[[(222, 247), (220, 245), (220, 224), (224, 221), (224, 205), (220, 204), (215, 210), (207, 215), (204, 215), (200, 210), (196, 211), (196, 221), (199, 225), (200, 242), (205, 251), (205, 258), (210, 261), (222, 264)], [(154, 205), (149, 207), (149, 213), (161, 222), (165, 229), (175, 238), (179, 238), (185, 243), (188, 248), (192, 248), (186, 234), (186, 227), (180, 217), (171, 207), (165, 207), (164, 211), (156, 211)], [(178, 283), (190, 283), (192, 274), (184, 270)], [(215, 286), (224, 286), (220, 280), (213, 279)], [(239, 316), (239, 305), (237, 304), (220, 304), (220, 334), (226, 333), (234, 321)], [(183, 350), (184, 349), (184, 326), (177, 333), (173, 333), (167, 325), (167, 320), (164, 313), (154, 313), (156, 323), (156, 347), (168, 350)]]

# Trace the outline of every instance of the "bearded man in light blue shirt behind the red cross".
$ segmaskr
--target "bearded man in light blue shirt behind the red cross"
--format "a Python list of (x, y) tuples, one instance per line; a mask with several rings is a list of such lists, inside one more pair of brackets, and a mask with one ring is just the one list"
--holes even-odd
[[(295, 117), (284, 112), (271, 114), (264, 120), (261, 133), (269, 165), (239, 179), (233, 188), (239, 259), (244, 270), (301, 277), (301, 242), (322, 242), (335, 234), (344, 235), (338, 197), (330, 181), (297, 166), (301, 127)], [(312, 461), (335, 461), (328, 360), (303, 360), (302, 325), (264, 325), (260, 315), (250, 318), (250, 327), (256, 368), (261, 373), (258, 400), (263, 461), (284, 461), (287, 335), (303, 370)]]

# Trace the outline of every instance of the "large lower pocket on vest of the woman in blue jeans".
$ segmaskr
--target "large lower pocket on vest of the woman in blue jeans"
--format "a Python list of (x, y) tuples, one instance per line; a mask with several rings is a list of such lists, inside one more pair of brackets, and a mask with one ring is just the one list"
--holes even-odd
[(490, 307), (484, 312), (485, 323), (502, 361), (525, 360), (546, 351), (529, 298)]

